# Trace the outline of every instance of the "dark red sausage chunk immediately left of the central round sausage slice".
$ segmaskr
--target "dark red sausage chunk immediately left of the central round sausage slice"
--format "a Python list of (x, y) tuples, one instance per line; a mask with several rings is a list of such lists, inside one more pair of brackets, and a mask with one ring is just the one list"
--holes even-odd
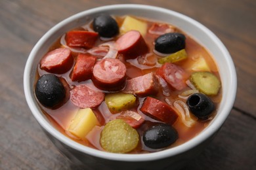
[(89, 80), (93, 75), (93, 67), (95, 66), (96, 60), (97, 58), (94, 56), (78, 54), (71, 74), (71, 80), (77, 82)]

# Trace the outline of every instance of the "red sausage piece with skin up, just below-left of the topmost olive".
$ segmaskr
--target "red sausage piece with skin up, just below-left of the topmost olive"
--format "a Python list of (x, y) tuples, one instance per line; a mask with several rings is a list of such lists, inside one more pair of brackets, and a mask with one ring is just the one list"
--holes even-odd
[(71, 47), (92, 48), (98, 39), (98, 33), (90, 31), (69, 31), (66, 33), (66, 43)]

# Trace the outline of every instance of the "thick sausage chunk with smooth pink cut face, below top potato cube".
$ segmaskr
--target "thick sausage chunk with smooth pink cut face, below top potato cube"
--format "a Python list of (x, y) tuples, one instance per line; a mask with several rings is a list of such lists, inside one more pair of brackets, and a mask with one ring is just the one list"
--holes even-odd
[(131, 30), (116, 41), (118, 52), (126, 59), (137, 58), (148, 52), (148, 46), (139, 31)]

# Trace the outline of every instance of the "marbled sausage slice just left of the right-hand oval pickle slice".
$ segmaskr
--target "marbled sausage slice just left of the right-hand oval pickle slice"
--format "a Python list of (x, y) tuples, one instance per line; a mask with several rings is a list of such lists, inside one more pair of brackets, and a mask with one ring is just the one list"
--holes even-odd
[(186, 87), (186, 79), (188, 78), (188, 75), (186, 75), (181, 67), (173, 63), (163, 64), (156, 71), (156, 75), (161, 76), (169, 86), (176, 90), (182, 90)]

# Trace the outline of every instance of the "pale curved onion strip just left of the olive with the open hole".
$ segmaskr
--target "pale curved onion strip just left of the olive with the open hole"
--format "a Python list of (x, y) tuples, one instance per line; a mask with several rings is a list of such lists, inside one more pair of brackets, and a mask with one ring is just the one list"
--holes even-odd
[(194, 118), (194, 116), (192, 118), (192, 114), (190, 114), (188, 106), (184, 103), (184, 101), (176, 100), (173, 102), (173, 106), (179, 111), (182, 123), (186, 127), (192, 127), (196, 123), (196, 118)]

